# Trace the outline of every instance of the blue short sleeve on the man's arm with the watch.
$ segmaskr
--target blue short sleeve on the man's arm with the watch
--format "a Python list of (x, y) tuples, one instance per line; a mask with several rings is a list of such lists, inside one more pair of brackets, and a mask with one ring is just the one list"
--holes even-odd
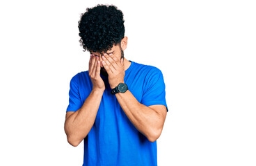
[(145, 77), (145, 89), (143, 90), (141, 104), (145, 106), (162, 104), (166, 106), (168, 111), (166, 85), (163, 80), (163, 74), (158, 68), (152, 68)]

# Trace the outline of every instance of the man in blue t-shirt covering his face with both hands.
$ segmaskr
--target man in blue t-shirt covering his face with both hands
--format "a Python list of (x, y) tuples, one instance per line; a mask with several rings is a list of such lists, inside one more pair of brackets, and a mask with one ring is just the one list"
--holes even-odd
[(83, 140), (83, 165), (157, 165), (157, 138), (168, 111), (163, 75), (128, 61), (123, 14), (115, 6), (87, 8), (79, 21), (88, 71), (70, 81), (67, 141)]

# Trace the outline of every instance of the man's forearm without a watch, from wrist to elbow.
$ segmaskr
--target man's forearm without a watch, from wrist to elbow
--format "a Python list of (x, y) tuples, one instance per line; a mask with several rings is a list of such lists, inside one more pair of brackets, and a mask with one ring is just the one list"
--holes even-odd
[(91, 91), (83, 106), (65, 121), (65, 133), (70, 144), (77, 146), (93, 127), (104, 91)]

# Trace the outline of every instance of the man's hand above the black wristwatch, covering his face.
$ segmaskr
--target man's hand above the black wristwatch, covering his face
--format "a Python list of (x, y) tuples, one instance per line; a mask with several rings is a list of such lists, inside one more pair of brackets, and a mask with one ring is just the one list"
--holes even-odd
[(125, 83), (124, 82), (124, 77), (125, 77), (124, 58), (119, 60), (113, 54), (110, 54), (110, 55), (104, 54), (104, 56), (102, 56), (102, 59), (103, 59), (102, 64), (109, 75), (109, 85), (111, 89), (114, 89), (121, 82)]

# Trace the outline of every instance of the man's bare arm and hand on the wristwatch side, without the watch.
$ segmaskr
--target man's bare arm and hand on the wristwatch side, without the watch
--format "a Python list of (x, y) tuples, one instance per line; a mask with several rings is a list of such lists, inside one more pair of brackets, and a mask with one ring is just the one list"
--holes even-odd
[[(102, 64), (109, 73), (109, 84), (111, 89), (115, 88), (120, 82), (124, 83), (124, 59), (120, 61), (111, 54), (104, 55), (102, 58), (104, 59)], [(138, 102), (129, 90), (125, 93), (117, 93), (115, 96), (127, 115), (127, 118), (134, 124), (134, 127), (143, 133), (143, 135), (151, 142), (157, 140), (163, 129), (167, 108), (164, 105), (151, 105), (147, 107)], [(152, 100), (152, 98), (147, 96), (145, 100)]]

